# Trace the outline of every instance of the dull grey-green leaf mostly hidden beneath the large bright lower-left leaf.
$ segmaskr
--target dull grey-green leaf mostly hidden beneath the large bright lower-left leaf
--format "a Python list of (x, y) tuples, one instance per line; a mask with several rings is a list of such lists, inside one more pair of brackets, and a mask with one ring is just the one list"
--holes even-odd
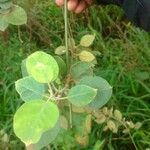
[(48, 131), (44, 132), (40, 140), (36, 144), (32, 144), (32, 150), (41, 150), (43, 147), (47, 146), (55, 140), (60, 131), (59, 122), (60, 121), (57, 121), (56, 125), (52, 129), (49, 129)]

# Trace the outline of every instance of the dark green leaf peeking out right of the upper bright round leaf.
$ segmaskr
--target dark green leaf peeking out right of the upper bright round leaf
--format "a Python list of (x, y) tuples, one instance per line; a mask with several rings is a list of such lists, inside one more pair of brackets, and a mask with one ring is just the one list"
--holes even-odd
[(64, 60), (59, 56), (54, 56), (54, 58), (57, 61), (58, 66), (59, 66), (59, 75), (64, 76), (67, 73), (67, 66)]

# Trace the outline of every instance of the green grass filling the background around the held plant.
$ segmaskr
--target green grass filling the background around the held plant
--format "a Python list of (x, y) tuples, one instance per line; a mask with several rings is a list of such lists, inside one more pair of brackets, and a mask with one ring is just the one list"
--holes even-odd
[[(49, 2), (25, 2), (20, 4), (29, 12), (28, 25), (19, 30), (10, 27), (9, 35), (1, 33), (0, 39), (0, 129), (9, 137), (8, 144), (0, 141), (2, 150), (6, 145), (11, 150), (23, 149), (12, 129), (13, 114), (22, 103), (14, 89), (14, 82), (21, 77), (22, 59), (36, 50), (53, 53), (55, 47), (64, 43), (62, 10)], [(127, 24), (121, 9), (114, 6), (95, 6), (82, 15), (70, 14), (70, 26), (77, 43), (87, 33), (96, 34), (93, 49), (101, 55), (97, 57), (95, 73), (113, 86), (107, 106), (119, 109), (129, 120), (141, 122), (142, 127), (131, 133), (132, 138), (139, 150), (150, 148), (150, 35)], [(91, 150), (96, 141), (105, 140), (103, 149), (135, 149), (128, 135), (105, 133), (101, 129), (93, 126), (86, 148), (75, 143), (72, 131), (65, 133), (63, 142), (55, 142), (55, 147)]]

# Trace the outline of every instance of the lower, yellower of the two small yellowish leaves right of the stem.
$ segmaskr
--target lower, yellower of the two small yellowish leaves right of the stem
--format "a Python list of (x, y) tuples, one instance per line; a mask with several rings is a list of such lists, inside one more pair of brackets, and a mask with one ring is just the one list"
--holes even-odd
[(81, 61), (92, 62), (95, 59), (95, 56), (88, 51), (82, 51), (79, 54), (79, 58)]

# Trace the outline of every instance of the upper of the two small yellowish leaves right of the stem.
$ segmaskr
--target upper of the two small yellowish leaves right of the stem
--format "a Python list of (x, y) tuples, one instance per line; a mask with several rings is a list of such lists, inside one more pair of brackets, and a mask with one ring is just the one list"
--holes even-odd
[(84, 47), (89, 47), (93, 44), (95, 40), (95, 35), (87, 34), (81, 38), (80, 45)]

